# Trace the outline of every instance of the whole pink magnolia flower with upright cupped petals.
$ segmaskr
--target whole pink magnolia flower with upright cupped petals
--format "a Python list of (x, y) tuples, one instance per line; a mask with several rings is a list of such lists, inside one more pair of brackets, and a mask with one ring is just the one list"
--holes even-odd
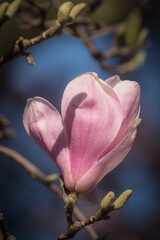
[(61, 113), (41, 97), (30, 98), (23, 124), (56, 162), (65, 187), (87, 193), (127, 155), (140, 122), (140, 87), (113, 76), (85, 73), (66, 87)]

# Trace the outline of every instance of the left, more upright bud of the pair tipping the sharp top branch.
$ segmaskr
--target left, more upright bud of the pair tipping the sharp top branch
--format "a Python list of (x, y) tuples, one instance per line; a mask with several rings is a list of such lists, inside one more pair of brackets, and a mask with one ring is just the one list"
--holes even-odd
[(69, 14), (72, 8), (73, 8), (73, 3), (70, 1), (63, 3), (60, 6), (58, 10), (58, 15), (57, 15), (58, 21), (60, 23), (65, 23), (68, 20)]

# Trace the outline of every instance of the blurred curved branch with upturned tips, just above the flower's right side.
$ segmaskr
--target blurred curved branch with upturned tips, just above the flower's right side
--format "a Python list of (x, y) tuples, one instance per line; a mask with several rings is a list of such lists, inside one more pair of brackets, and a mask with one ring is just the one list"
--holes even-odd
[[(82, 39), (92, 56), (99, 62), (102, 69), (127, 73), (135, 70), (145, 59), (145, 55), (142, 51), (140, 51), (140, 49), (147, 44), (147, 41), (144, 41), (141, 45), (132, 48), (129, 48), (127, 46), (121, 47), (119, 45), (118, 37), (116, 37), (115, 46), (108, 51), (101, 52), (98, 50), (95, 42), (91, 39), (86, 29), (84, 29), (81, 25), (75, 27), (75, 29), (77, 35)], [(114, 65), (104, 63), (104, 60), (118, 56), (128, 56), (129, 54), (133, 54), (136, 51), (137, 53), (130, 60), (122, 64)]]

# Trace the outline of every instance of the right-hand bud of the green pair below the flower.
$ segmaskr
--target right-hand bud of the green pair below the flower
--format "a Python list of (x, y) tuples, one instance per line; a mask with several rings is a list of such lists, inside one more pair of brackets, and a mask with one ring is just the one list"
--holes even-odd
[(122, 208), (125, 203), (127, 202), (128, 198), (132, 195), (132, 190), (126, 190), (124, 191), (113, 203), (113, 209), (118, 210)]

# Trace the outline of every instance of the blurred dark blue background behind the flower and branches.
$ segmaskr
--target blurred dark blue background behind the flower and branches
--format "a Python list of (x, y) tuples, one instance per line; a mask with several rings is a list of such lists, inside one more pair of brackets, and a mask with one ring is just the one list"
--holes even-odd
[[(94, 21), (115, 24), (137, 9), (140, 1), (104, 2), (92, 17)], [(160, 239), (160, 4), (159, 1), (143, 2), (147, 2), (147, 8), (141, 8), (142, 22), (149, 32), (144, 48), (146, 59), (134, 71), (120, 73), (121, 79), (138, 81), (141, 86), (143, 120), (130, 153), (98, 185), (100, 199), (108, 191), (118, 196), (126, 189), (133, 190), (122, 210), (111, 213), (109, 221), (94, 225), (99, 234), (109, 231), (108, 239), (113, 240)], [(14, 18), (7, 20), (0, 29), (0, 55), (10, 49), (18, 36), (29, 38), (41, 31), (40, 28), (22, 29)], [(115, 35), (110, 34), (93, 39), (103, 51), (112, 47), (114, 38)], [(19, 57), (0, 68), (0, 114), (10, 120), (14, 131), (13, 138), (1, 138), (0, 144), (16, 150), (47, 175), (59, 169), (24, 130), (22, 115), (27, 98), (44, 97), (60, 111), (63, 91), (73, 78), (96, 72), (105, 80), (117, 72), (102, 69), (83, 41), (67, 34), (46, 40), (29, 51), (35, 66), (30, 66), (25, 57)], [(121, 61), (124, 58), (113, 59), (112, 63)], [(80, 208), (89, 217), (98, 206)], [(3, 155), (0, 155), (0, 212), (5, 216), (8, 232), (17, 240), (57, 239), (67, 227), (64, 205), (58, 197)], [(82, 230), (74, 239), (90, 238)]]

